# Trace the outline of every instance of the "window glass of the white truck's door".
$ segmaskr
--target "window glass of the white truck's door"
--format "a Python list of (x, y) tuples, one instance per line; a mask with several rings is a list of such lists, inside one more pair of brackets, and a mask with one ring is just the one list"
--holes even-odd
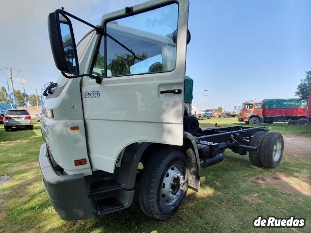
[(103, 36), (93, 74), (103, 75), (105, 62), (107, 76), (172, 71), (176, 65), (173, 34), (177, 23), (176, 3), (109, 21), (106, 23), (106, 59)]

